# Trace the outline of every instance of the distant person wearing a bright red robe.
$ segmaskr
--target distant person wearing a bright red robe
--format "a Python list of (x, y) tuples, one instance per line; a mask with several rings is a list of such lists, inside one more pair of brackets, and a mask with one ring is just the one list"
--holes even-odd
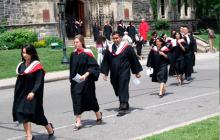
[(144, 43), (147, 42), (147, 36), (148, 36), (149, 29), (150, 29), (149, 24), (144, 19), (142, 19), (141, 23), (139, 25), (139, 33), (143, 37)]

